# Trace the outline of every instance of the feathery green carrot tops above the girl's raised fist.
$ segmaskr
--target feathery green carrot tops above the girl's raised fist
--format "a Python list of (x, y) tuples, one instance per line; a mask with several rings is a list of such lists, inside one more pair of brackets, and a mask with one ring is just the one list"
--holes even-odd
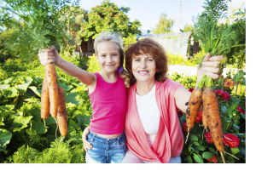
[[(73, 37), (67, 34), (67, 26), (72, 20), (66, 13), (68, 0), (4, 0), (0, 21), (7, 28), (15, 29), (15, 34), (9, 37), (5, 45), (13, 54), (22, 60), (31, 60), (38, 54), (38, 49), (67, 46), (73, 43)], [(73, 7), (78, 5), (73, 2)], [(15, 20), (15, 17), (19, 20)]]

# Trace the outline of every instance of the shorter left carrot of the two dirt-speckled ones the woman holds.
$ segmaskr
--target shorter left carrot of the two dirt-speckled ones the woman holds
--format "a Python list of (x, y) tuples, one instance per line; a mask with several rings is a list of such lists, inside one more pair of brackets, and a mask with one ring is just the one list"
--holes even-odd
[[(193, 128), (195, 125), (195, 117), (197, 116), (197, 113), (200, 109), (200, 106), (202, 104), (202, 88), (195, 88), (190, 96), (189, 99), (189, 105), (188, 109), (186, 111), (186, 123), (188, 126), (188, 135), (187, 135), (187, 140), (189, 137), (189, 129)], [(187, 142), (186, 140), (186, 142)]]

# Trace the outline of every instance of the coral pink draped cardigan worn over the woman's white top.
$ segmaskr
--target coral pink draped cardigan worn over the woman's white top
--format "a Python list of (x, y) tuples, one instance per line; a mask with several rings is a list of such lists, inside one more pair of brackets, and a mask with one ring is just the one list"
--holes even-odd
[(183, 150), (183, 132), (177, 117), (174, 92), (183, 85), (167, 79), (164, 83), (155, 83), (155, 98), (160, 110), (160, 127), (150, 147), (146, 139), (143, 124), (137, 113), (136, 84), (127, 89), (125, 112), (125, 135), (129, 151), (146, 162), (169, 162)]

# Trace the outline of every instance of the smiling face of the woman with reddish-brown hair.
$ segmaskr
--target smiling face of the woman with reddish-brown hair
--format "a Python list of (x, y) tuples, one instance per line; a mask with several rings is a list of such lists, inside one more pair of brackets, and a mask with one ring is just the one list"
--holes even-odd
[[(141, 52), (142, 53), (142, 52)], [(133, 56), (131, 63), (132, 74), (137, 82), (153, 83), (157, 71), (154, 57), (151, 54)]]

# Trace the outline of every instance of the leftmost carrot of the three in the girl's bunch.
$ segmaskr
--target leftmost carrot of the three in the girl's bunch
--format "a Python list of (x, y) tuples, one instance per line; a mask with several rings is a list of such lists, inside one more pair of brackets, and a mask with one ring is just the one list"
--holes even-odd
[(49, 116), (49, 90), (46, 77), (44, 77), (41, 92), (41, 117), (46, 119)]

